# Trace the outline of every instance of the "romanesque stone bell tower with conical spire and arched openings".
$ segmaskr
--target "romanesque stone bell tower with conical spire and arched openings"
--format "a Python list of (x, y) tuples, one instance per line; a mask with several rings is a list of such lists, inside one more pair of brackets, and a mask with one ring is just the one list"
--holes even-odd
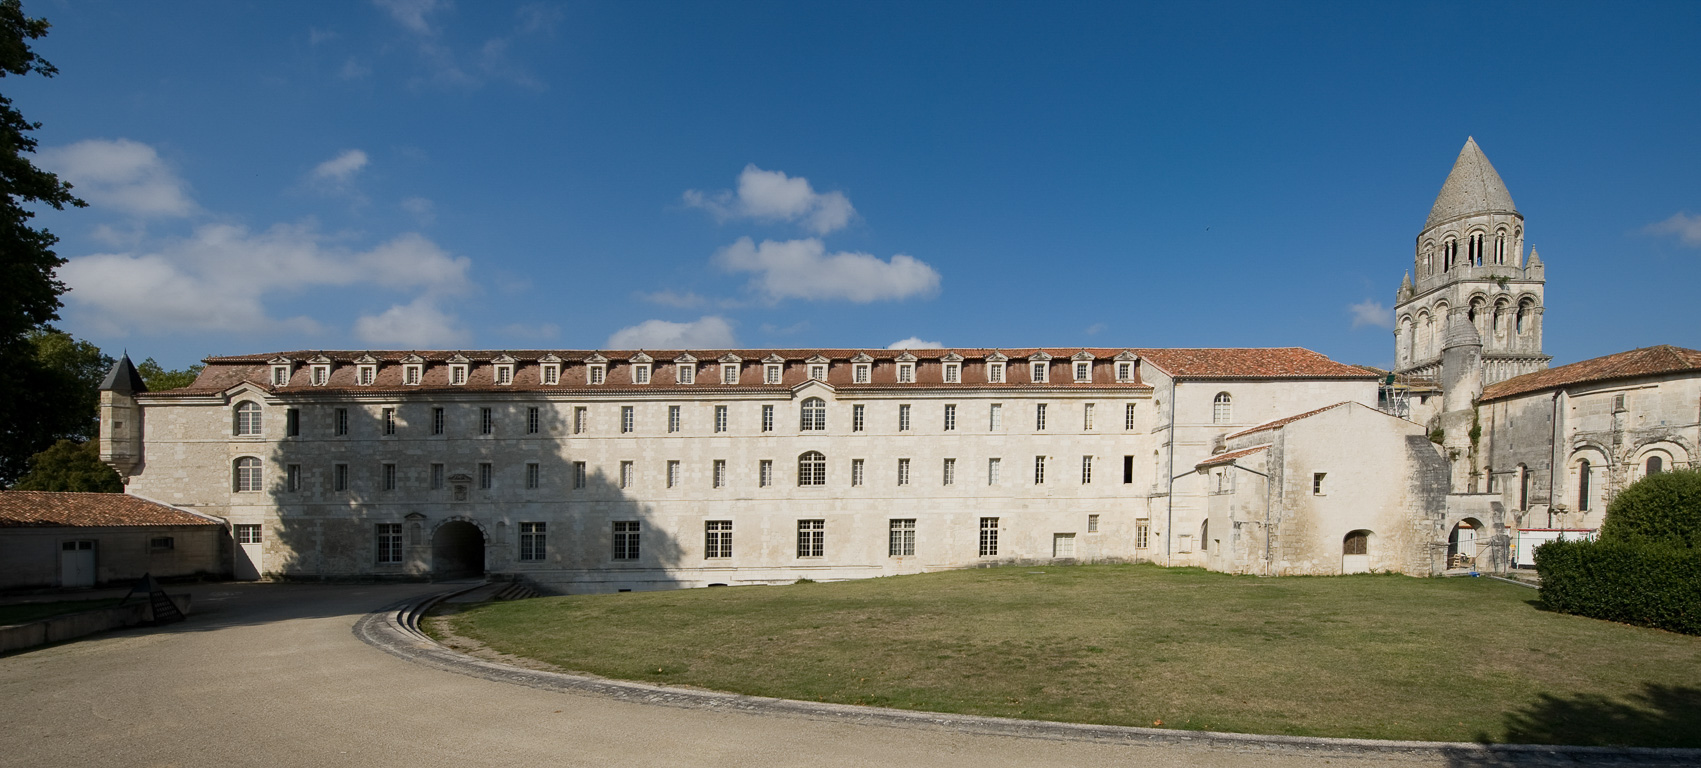
[[(1437, 426), (1454, 458), (1473, 453), (1473, 405), (1483, 387), (1548, 368), (1545, 284), (1541, 257), (1534, 249), (1524, 257), (1524, 216), (1476, 140), (1466, 138), (1395, 298), (1395, 373), (1441, 387)], [(1456, 487), (1473, 482), (1470, 463), (1454, 463)]]

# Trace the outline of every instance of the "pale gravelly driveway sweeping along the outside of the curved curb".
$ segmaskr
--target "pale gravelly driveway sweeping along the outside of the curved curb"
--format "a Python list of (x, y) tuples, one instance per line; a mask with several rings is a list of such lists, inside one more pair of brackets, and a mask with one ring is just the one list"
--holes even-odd
[(1102, 744), (660, 707), (441, 671), (350, 632), (371, 610), (439, 589), (208, 584), (189, 589), (185, 623), (0, 657), (0, 765), (1526, 763), (1480, 753)]

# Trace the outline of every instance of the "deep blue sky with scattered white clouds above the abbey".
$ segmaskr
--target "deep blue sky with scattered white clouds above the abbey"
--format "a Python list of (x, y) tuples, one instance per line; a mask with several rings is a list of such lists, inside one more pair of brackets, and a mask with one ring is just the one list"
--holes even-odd
[[(1180, 7), (1187, 5), (1187, 7)], [(1466, 136), (1568, 363), (1701, 347), (1701, 3), (26, 3), (63, 329), (1388, 364)]]

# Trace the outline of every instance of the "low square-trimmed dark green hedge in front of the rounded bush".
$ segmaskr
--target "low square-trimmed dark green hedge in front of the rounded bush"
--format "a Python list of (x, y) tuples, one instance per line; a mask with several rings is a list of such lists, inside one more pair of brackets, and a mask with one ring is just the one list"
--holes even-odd
[(1536, 548), (1536, 572), (1555, 611), (1701, 635), (1701, 550), (1548, 542)]

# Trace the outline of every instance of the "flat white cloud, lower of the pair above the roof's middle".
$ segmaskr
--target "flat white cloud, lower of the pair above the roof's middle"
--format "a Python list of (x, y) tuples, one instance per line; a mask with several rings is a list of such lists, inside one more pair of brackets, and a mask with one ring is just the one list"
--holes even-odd
[(818, 238), (762, 240), (748, 237), (714, 254), (731, 272), (755, 272), (750, 288), (771, 301), (784, 298), (890, 301), (939, 293), (939, 272), (912, 255), (879, 261), (871, 254), (828, 254)]

